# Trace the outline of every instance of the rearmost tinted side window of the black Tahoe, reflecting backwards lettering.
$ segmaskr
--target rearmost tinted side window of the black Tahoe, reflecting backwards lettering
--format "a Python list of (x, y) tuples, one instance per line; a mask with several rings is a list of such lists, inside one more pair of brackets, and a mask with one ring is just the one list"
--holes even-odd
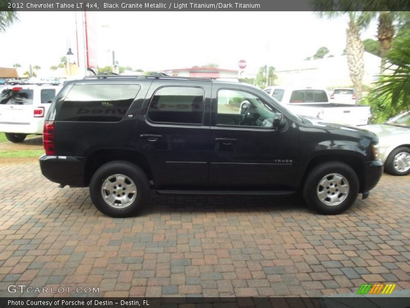
[(119, 122), (139, 88), (138, 85), (74, 85), (62, 102), (56, 120)]

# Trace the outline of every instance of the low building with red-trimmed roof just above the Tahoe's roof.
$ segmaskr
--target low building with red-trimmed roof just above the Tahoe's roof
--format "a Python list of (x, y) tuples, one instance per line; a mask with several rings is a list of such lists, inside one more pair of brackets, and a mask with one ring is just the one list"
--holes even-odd
[(222, 69), (218, 67), (198, 66), (191, 68), (168, 69), (161, 71), (171, 76), (199, 77), (212, 79), (237, 80), (238, 71), (234, 69)]

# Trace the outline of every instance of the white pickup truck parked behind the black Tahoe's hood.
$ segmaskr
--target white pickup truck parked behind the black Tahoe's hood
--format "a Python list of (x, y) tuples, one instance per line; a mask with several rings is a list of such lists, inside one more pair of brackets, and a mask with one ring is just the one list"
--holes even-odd
[(369, 106), (329, 103), (324, 89), (272, 86), (264, 91), (293, 113), (327, 123), (366, 125), (372, 115)]

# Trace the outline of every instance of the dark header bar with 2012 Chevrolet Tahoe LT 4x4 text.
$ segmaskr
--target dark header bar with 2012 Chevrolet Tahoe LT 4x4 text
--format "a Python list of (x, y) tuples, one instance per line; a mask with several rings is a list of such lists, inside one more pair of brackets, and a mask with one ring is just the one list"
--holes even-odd
[(0, 0), (0, 11), (409, 11), (408, 0)]

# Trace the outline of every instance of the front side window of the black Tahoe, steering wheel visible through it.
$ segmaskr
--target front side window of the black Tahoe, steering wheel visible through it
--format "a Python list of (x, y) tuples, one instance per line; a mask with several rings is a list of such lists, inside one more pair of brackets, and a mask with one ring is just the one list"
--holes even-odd
[(270, 126), (276, 110), (256, 95), (221, 89), (218, 91), (217, 125)]

